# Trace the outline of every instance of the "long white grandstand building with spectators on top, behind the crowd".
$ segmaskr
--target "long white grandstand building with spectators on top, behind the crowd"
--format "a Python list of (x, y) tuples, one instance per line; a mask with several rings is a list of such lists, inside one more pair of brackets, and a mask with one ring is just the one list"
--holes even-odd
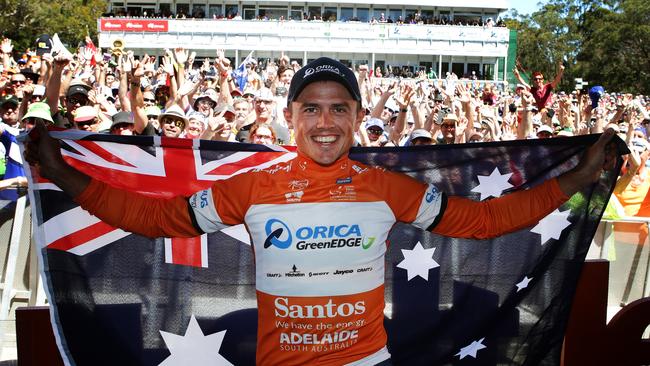
[[(390, 65), (414, 73), (432, 68), (443, 76), (473, 71), (505, 80), (515, 37), (507, 28), (485, 24), (495, 23), (506, 9), (506, 0), (111, 0), (110, 16), (98, 20), (99, 44), (110, 48), (121, 39), (136, 54), (157, 56), (182, 46), (196, 51), (198, 60), (223, 48), (237, 63), (250, 51), (258, 59), (284, 52), (301, 63), (329, 56), (373, 68)], [(397, 23), (411, 19), (420, 24)], [(447, 25), (439, 25), (443, 20)]]

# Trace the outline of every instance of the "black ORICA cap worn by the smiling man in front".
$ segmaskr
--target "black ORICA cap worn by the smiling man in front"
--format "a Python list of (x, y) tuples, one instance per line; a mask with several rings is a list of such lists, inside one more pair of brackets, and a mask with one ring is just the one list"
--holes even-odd
[(308, 63), (291, 79), (289, 86), (289, 95), (287, 95), (287, 105), (291, 104), (305, 87), (314, 81), (336, 81), (343, 85), (352, 95), (352, 98), (358, 102), (361, 101), (361, 92), (354, 72), (342, 63), (329, 57), (320, 57)]

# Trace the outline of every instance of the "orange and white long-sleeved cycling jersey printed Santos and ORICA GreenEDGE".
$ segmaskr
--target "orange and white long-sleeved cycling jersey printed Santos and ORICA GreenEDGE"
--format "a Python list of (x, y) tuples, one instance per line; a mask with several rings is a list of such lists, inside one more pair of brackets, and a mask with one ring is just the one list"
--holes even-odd
[(552, 179), (474, 202), (347, 157), (324, 167), (299, 154), (189, 199), (154, 199), (97, 180), (76, 199), (107, 223), (151, 237), (244, 223), (255, 254), (257, 363), (373, 365), (390, 357), (384, 255), (393, 224), (488, 238), (532, 225), (567, 197)]

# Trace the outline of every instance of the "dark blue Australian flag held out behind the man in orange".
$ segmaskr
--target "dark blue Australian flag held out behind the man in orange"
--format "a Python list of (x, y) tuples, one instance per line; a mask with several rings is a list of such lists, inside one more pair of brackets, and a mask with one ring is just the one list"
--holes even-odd
[[(161, 198), (294, 157), (262, 145), (70, 132), (55, 137), (77, 169)], [(450, 195), (485, 200), (571, 169), (597, 137), (359, 148), (350, 155)], [(194, 239), (144, 238), (102, 223), (34, 170), (28, 173), (34, 234), (66, 362), (255, 364), (254, 263), (243, 227)], [(617, 173), (603, 173), (537, 224), (494, 240), (396, 225), (384, 311), (392, 363), (559, 364), (582, 263)]]

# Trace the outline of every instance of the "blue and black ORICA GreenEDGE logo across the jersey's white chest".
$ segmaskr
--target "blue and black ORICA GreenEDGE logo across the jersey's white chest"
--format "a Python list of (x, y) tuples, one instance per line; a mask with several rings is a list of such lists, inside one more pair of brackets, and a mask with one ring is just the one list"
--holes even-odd
[(361, 228), (357, 224), (352, 225), (330, 225), (330, 226), (302, 226), (295, 232), (289, 226), (278, 219), (270, 219), (264, 227), (266, 240), (264, 248), (271, 245), (287, 249), (291, 246), (293, 238), (296, 242), (296, 249), (336, 249), (345, 247), (362, 247), (368, 249), (375, 242), (375, 237), (364, 238)]

